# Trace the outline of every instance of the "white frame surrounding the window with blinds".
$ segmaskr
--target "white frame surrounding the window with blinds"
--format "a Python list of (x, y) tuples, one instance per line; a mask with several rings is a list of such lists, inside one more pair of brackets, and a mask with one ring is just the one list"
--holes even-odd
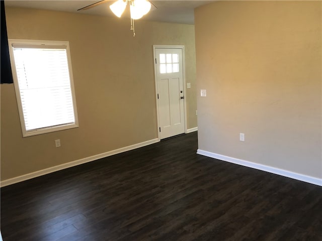
[[(23, 39), (9, 39), (9, 53), (10, 53), (10, 62), (12, 66), (12, 74), (14, 79), (14, 86), (15, 86), (15, 92), (16, 92), (16, 98), (17, 98), (17, 104), (18, 104), (18, 110), (19, 110), (19, 117), (20, 117), (20, 124), (22, 129), (22, 135), (23, 137), (30, 137), (35, 135), (41, 135), (51, 132), (58, 132), (62, 130), (72, 129), (79, 127), (78, 125), (78, 116), (77, 116), (77, 107), (76, 107), (76, 98), (75, 98), (75, 89), (74, 89), (74, 81), (73, 81), (73, 74), (72, 74), (72, 67), (71, 67), (71, 57), (70, 57), (70, 50), (69, 50), (69, 42), (68, 41), (51, 41), (51, 40), (23, 40)], [(14, 47), (13, 45), (22, 45), (22, 46), (66, 46), (66, 55), (67, 55), (67, 65), (68, 65), (68, 71), (69, 71), (69, 81), (70, 81), (70, 91), (71, 91), (71, 98), (72, 98), (72, 105), (73, 105), (73, 112), (74, 112), (74, 123), (71, 124), (61, 124), (57, 126), (50, 126), (50, 127), (44, 127), (39, 129), (33, 129), (30, 131), (26, 130), (25, 125), (25, 117), (22, 107), (22, 100), (21, 100), (21, 92), (20, 87), (18, 83), (18, 76), (17, 76), (17, 69), (16, 69), (16, 63), (15, 63), (15, 57), (14, 57)]]

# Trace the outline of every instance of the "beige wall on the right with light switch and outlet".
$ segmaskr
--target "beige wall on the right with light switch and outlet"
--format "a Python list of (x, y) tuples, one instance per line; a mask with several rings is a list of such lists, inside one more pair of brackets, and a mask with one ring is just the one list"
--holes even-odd
[(322, 178), (321, 4), (195, 11), (199, 149)]

